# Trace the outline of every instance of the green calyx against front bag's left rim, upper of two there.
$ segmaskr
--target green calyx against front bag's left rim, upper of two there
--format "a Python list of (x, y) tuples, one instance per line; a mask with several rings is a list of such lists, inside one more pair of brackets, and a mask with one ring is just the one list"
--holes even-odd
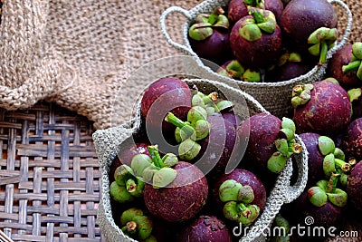
[(110, 184), (110, 197), (119, 203), (133, 201), (143, 196), (145, 183), (135, 176), (133, 169), (120, 165), (114, 172), (115, 180)]

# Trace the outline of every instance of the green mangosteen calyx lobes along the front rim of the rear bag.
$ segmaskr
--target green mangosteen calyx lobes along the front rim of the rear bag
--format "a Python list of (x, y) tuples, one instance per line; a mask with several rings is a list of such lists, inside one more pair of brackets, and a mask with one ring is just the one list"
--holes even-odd
[(262, 74), (257, 69), (244, 68), (237, 60), (229, 60), (222, 64), (216, 73), (244, 82), (260, 82)]

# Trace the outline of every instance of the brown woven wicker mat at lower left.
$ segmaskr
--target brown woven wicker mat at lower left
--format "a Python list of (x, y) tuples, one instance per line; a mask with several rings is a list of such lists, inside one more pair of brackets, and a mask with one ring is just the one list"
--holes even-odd
[(0, 111), (0, 229), (14, 241), (100, 241), (91, 127), (47, 102)]

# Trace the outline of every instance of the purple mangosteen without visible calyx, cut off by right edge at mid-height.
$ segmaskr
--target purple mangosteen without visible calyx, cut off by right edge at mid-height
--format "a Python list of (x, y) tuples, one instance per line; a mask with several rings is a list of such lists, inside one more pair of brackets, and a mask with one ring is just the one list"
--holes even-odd
[(348, 159), (362, 160), (362, 118), (349, 123), (342, 136), (342, 148)]

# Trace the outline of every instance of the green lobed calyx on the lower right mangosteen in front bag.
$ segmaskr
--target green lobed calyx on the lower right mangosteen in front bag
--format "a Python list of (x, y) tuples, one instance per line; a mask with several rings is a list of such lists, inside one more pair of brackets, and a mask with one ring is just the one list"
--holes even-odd
[(251, 204), (254, 193), (248, 185), (243, 186), (234, 179), (227, 179), (219, 188), (219, 198), (225, 203), (224, 217), (227, 219), (248, 226), (259, 216), (260, 208)]

